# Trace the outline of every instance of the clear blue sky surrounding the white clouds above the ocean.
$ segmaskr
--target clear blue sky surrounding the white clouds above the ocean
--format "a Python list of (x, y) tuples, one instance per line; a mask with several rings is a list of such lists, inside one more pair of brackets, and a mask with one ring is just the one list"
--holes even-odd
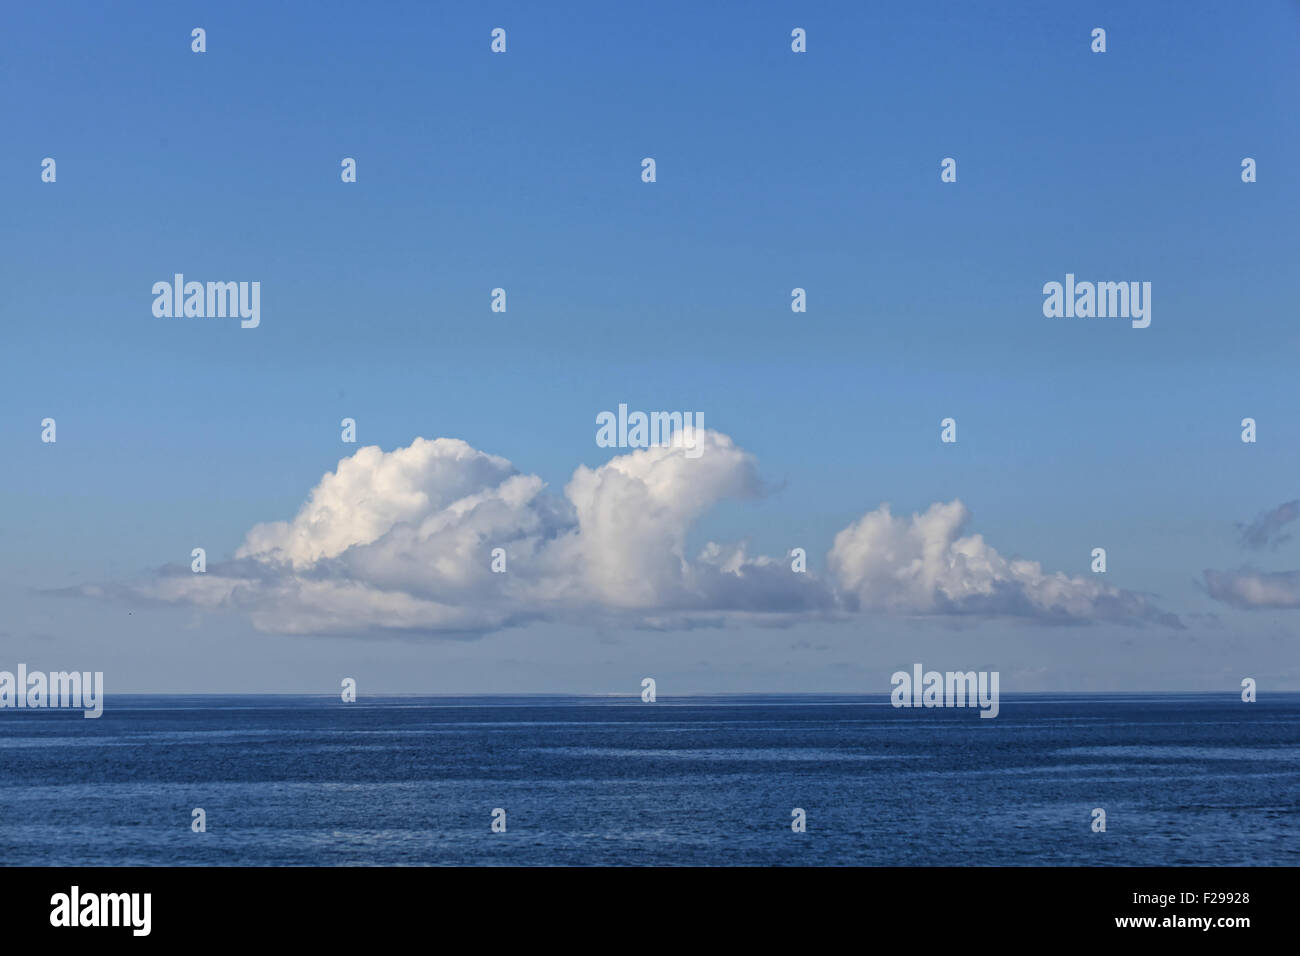
[[(6, 10), (4, 658), (124, 692), (633, 692), (646, 672), (666, 695), (885, 692), (913, 661), (1001, 670), (1008, 692), (1300, 689), (1297, 611), (1202, 583), (1300, 567), (1294, 542), (1252, 553), (1235, 529), (1297, 497), (1300, 5), (1026, 9)], [(150, 289), (176, 272), (260, 281), (260, 328), (156, 319)], [(1150, 328), (1045, 319), (1067, 272), (1152, 282)], [(824, 574), (864, 512), (956, 498), (967, 532), (1046, 571), (1091, 579), (1105, 546), (1105, 584), (1186, 627), (871, 613), (306, 636), (48, 593), (147, 580), (199, 545), (228, 559), (355, 450), (344, 416), (361, 445), (463, 438), (559, 494), (610, 460), (594, 416), (620, 402), (698, 410), (770, 486), (707, 510), (693, 550), (801, 545)]]

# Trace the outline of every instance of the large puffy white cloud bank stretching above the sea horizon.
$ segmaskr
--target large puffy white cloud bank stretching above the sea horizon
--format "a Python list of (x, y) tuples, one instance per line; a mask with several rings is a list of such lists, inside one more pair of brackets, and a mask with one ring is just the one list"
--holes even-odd
[[(292, 520), (250, 529), (233, 561), (84, 593), (235, 609), (281, 633), (473, 636), (534, 619), (784, 626), (863, 611), (1179, 626), (1140, 594), (1045, 574), (963, 536), (958, 501), (911, 518), (868, 512), (836, 536), (826, 580), (742, 544), (688, 555), (694, 523), (724, 498), (758, 494), (760, 481), (725, 434), (699, 431), (690, 457), (676, 437), (578, 467), (563, 496), (459, 440), (364, 447)], [(491, 572), (494, 548), (507, 574)]]

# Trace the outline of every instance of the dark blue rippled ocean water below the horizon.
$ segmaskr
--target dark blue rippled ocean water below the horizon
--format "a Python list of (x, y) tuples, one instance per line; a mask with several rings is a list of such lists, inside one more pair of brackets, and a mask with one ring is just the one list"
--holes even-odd
[(0, 711), (6, 865), (1296, 865), (1297, 810), (1300, 695), (1004, 695), (996, 719), (884, 695)]

